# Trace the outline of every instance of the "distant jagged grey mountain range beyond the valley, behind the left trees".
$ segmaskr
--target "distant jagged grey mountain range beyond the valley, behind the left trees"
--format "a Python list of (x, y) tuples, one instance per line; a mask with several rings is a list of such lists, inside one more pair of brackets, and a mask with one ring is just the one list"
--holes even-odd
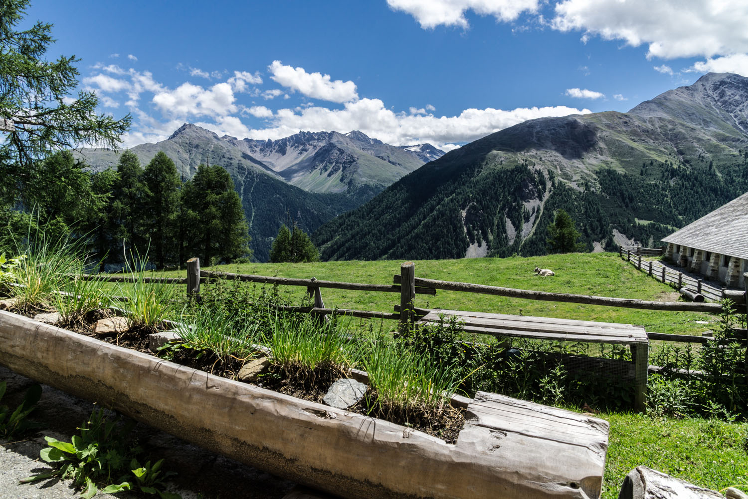
[[(392, 146), (357, 130), (299, 132), (277, 141), (256, 141), (218, 137), (191, 123), (164, 141), (130, 150), (141, 165), (147, 165), (159, 151), (165, 152), (184, 180), (200, 164), (226, 168), (242, 200), (251, 248), (260, 261), (268, 259), (281, 224), (293, 221), (312, 232), (444, 155), (431, 144)], [(116, 168), (119, 160), (119, 153), (108, 149), (84, 149), (77, 154), (94, 171)]]

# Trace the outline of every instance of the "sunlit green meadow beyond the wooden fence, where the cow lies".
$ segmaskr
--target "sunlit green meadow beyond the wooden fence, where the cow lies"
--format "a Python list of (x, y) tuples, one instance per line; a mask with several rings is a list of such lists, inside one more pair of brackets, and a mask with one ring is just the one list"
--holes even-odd
[[(364, 284), (392, 284), (399, 274), (400, 260), (374, 262), (318, 262), (318, 263), (248, 263), (209, 268), (223, 272), (272, 275), (288, 278), (312, 278), (323, 281), (346, 281)], [(553, 269), (556, 275), (542, 278), (533, 273), (539, 266)], [(677, 301), (672, 287), (649, 278), (621, 260), (617, 254), (563, 254), (545, 257), (476, 258), (462, 260), (417, 260), (416, 277), (460, 281), (491, 286), (542, 290), (554, 293), (579, 293), (643, 300)], [(170, 272), (183, 275), (183, 272)], [(295, 303), (304, 300), (302, 287), (281, 287), (281, 294)], [(328, 307), (354, 308), (392, 312), (399, 304), (396, 293), (373, 293), (346, 290), (322, 290)], [(439, 290), (436, 296), (418, 295), (417, 307), (474, 310), (496, 313), (522, 313), (531, 316), (564, 319), (622, 322), (646, 327), (647, 331), (675, 334), (701, 334), (710, 325), (697, 320), (715, 318), (704, 313), (663, 312), (601, 307), (585, 304), (532, 301), (500, 296), (476, 295)]]

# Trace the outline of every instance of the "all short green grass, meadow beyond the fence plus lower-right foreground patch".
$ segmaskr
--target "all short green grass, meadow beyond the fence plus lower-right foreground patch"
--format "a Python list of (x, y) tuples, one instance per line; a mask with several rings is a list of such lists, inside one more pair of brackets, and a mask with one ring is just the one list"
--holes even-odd
[[(249, 263), (209, 268), (223, 272), (289, 278), (316, 277), (325, 281), (392, 284), (400, 261), (346, 261), (319, 263)], [(534, 275), (533, 269), (552, 269), (554, 277)], [(168, 272), (182, 277), (184, 271)], [(566, 254), (546, 257), (465, 260), (419, 260), (417, 277), (474, 284), (577, 293), (644, 300), (678, 301), (678, 293), (617, 254)], [(258, 285), (259, 286), (259, 285)], [(281, 287), (283, 296), (295, 303), (305, 297), (302, 287)], [(647, 331), (701, 334), (713, 328), (716, 316), (707, 313), (663, 312), (509, 299), (498, 296), (441, 291), (436, 296), (419, 295), (417, 306), (522, 313), (566, 319), (599, 320), (643, 325)], [(397, 293), (367, 293), (322, 290), (328, 307), (391, 312), (399, 304)], [(696, 321), (707, 321), (699, 324)], [(394, 325), (394, 323), (393, 323)], [(660, 342), (655, 342), (660, 343)], [(654, 346), (654, 348), (657, 348)], [(610, 422), (610, 447), (603, 498), (615, 499), (623, 478), (637, 465), (671, 474), (699, 486), (724, 489), (748, 483), (748, 423), (724, 423), (699, 418), (648, 417), (643, 414), (607, 412), (599, 417)]]

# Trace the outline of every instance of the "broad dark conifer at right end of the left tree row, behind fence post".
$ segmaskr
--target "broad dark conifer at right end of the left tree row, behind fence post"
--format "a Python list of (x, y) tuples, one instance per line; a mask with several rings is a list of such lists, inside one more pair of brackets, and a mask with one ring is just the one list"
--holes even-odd
[(182, 203), (189, 256), (209, 266), (251, 254), (242, 201), (224, 168), (200, 165), (182, 189)]

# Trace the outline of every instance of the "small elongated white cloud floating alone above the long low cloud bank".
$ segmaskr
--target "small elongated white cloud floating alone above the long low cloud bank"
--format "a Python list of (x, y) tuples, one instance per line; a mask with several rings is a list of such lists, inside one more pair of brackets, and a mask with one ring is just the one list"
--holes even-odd
[(278, 82), (292, 91), (298, 91), (307, 97), (330, 102), (358, 100), (356, 84), (350, 80), (348, 82), (332, 81), (330, 75), (307, 73), (303, 67), (286, 66), (281, 61), (273, 61), (268, 66), (268, 70), (272, 73), (270, 78), (274, 82)]

